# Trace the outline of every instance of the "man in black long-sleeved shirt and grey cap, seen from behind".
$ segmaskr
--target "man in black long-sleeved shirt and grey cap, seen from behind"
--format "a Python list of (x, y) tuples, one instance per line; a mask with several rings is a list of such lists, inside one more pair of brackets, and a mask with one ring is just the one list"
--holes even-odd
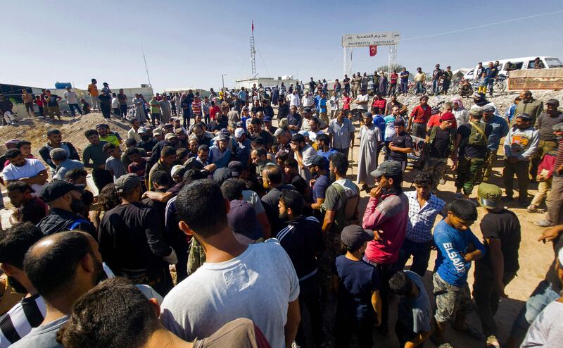
[(178, 262), (176, 252), (163, 240), (156, 211), (141, 203), (141, 178), (126, 174), (114, 185), (122, 203), (106, 211), (100, 222), (103, 259), (116, 275), (165, 295), (173, 286), (168, 264)]

